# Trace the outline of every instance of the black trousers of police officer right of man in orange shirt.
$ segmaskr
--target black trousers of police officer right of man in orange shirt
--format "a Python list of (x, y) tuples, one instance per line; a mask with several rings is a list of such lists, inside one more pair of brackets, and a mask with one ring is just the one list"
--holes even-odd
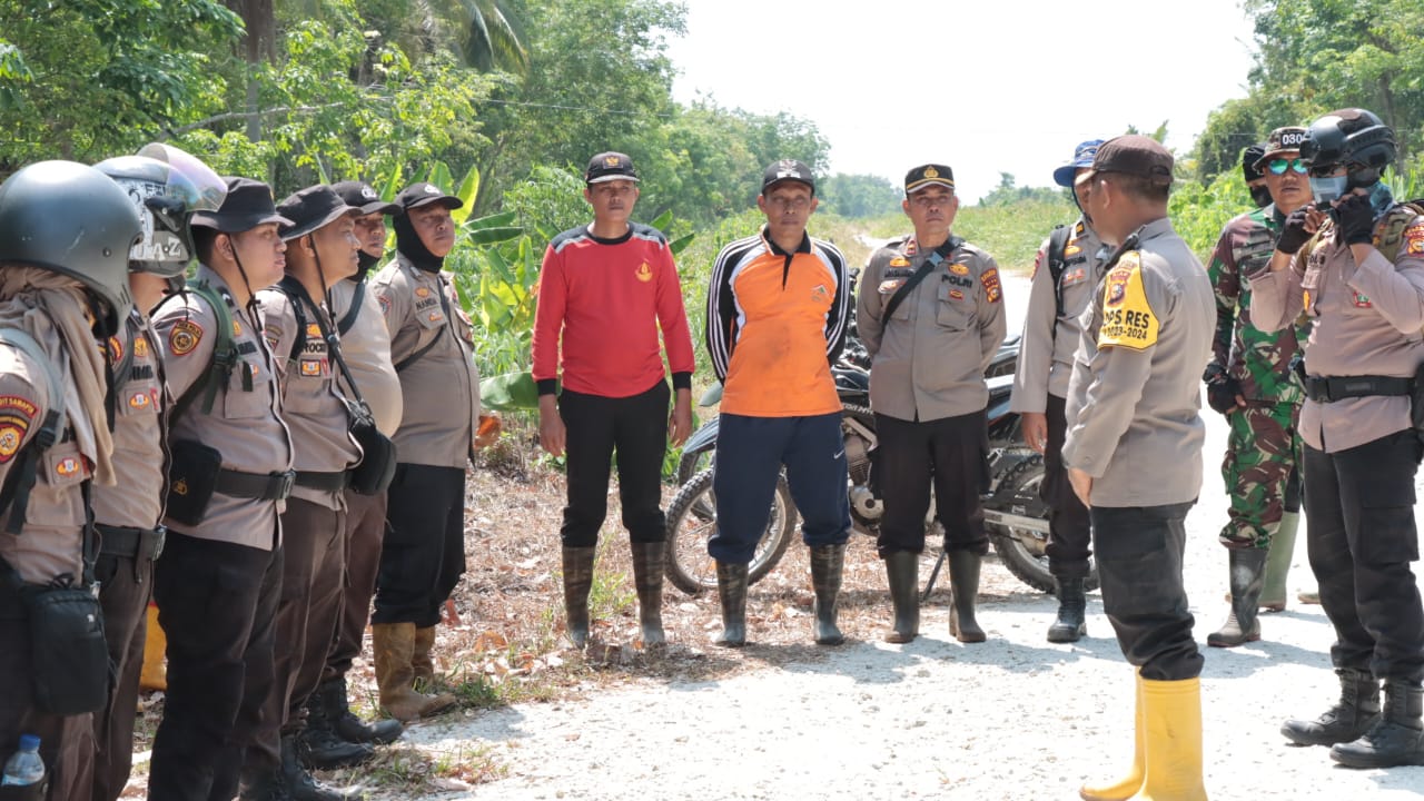
[(984, 410), (910, 422), (876, 415), (876, 486), (886, 505), (876, 549), (880, 557), (924, 550), (924, 517), (934, 486), (944, 549), (988, 553), (984, 505), (988, 489), (988, 428)]

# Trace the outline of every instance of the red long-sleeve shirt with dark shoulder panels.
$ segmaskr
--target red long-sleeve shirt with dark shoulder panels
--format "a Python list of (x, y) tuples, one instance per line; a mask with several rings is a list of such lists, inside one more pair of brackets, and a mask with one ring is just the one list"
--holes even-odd
[[(664, 235), (629, 224), (618, 239), (587, 227), (548, 244), (534, 315), (534, 381), (541, 395), (564, 386), (604, 398), (646, 392), (662, 379), (662, 345), (675, 388), (692, 386), (692, 335), (678, 268)], [(562, 339), (562, 353), (560, 345)]]

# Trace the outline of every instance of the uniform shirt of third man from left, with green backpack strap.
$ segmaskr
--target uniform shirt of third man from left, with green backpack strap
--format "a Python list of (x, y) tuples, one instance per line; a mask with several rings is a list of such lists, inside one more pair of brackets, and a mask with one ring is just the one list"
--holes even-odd
[[(232, 302), (226, 282), (199, 264), (197, 281), (206, 281), (228, 304), (232, 342), (238, 363), (225, 386), (219, 386), (212, 412), (202, 412), (202, 392), (172, 423), (169, 442), (197, 440), (222, 453), (222, 466), (244, 473), (283, 473), (292, 469), (292, 438), (282, 422), (281, 396), (272, 353), (262, 338), (261, 321)], [(208, 375), (216, 343), (218, 318), (208, 302), (194, 292), (164, 301), (154, 312), (154, 332), (164, 348), (164, 372), (174, 398)], [(246, 389), (245, 389), (246, 386)], [(271, 550), (281, 544), (278, 515), (285, 502), (234, 497), (215, 493), (198, 526), (167, 520), (182, 534)], [(276, 534), (276, 536), (273, 536)]]

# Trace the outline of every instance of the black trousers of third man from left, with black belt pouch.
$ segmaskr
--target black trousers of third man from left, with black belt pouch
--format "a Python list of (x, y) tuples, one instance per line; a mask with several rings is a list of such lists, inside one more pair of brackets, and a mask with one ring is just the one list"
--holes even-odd
[(168, 637), (168, 696), (154, 737), (150, 801), (231, 801), (272, 691), (282, 549), (168, 533), (154, 570)]

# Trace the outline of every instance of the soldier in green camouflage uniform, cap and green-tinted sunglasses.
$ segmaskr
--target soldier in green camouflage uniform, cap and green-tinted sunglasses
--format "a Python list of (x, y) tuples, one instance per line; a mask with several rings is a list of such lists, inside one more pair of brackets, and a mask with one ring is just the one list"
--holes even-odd
[(1270, 133), (1256, 167), (1274, 200), (1227, 222), (1212, 251), (1216, 335), (1202, 379), (1208, 403), (1230, 425), (1222, 462), (1230, 509), (1219, 539), (1227, 549), (1232, 599), (1226, 623), (1206, 637), (1215, 647), (1259, 640), (1257, 606), (1286, 607), (1286, 573), (1300, 523), (1296, 422), (1306, 399), (1290, 363), (1306, 331), (1292, 325), (1267, 334), (1252, 325), (1250, 286), (1242, 278), (1265, 268), (1286, 215), (1310, 202), (1300, 162), (1304, 135), (1300, 127)]

